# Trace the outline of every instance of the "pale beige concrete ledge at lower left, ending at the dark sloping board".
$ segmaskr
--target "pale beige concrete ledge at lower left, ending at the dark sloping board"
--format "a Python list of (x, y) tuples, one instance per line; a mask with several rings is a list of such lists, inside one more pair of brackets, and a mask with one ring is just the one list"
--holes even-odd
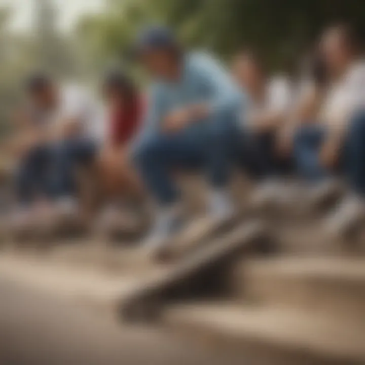
[(2, 278), (105, 314), (116, 314), (123, 298), (134, 292), (146, 277), (160, 275), (162, 270), (164, 268), (120, 274), (48, 262), (43, 256), (29, 253), (2, 252), (0, 255)]

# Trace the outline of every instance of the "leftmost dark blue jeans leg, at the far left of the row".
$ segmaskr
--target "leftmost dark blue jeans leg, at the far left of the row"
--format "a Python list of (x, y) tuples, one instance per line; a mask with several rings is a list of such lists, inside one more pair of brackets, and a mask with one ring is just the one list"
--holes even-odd
[(52, 152), (48, 145), (32, 148), (20, 161), (16, 176), (15, 189), (21, 205), (30, 204), (35, 196), (52, 196), (50, 171)]

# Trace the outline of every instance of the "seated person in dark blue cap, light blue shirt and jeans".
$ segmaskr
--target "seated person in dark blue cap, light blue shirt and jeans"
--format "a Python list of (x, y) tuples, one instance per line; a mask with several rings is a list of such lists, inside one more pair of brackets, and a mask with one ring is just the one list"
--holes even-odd
[(185, 52), (168, 29), (143, 32), (136, 54), (155, 79), (133, 153), (158, 202), (156, 222), (145, 244), (159, 247), (176, 233), (181, 218), (176, 170), (206, 170), (208, 220), (220, 224), (232, 218), (227, 184), (240, 94), (217, 61), (207, 54)]

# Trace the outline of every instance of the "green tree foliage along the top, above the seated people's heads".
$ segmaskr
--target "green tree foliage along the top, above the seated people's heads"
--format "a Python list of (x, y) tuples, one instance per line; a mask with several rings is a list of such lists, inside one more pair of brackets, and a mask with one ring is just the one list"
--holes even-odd
[(140, 25), (163, 22), (192, 47), (229, 57), (255, 49), (273, 68), (293, 64), (327, 24), (350, 22), (365, 35), (363, 0), (109, 0), (79, 34), (98, 60), (118, 55)]

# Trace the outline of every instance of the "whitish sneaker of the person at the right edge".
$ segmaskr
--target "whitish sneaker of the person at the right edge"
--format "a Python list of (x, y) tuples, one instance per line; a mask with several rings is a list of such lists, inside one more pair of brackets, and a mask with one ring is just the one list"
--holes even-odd
[(349, 195), (335, 212), (326, 218), (324, 230), (332, 237), (346, 238), (364, 220), (365, 202), (355, 195)]

